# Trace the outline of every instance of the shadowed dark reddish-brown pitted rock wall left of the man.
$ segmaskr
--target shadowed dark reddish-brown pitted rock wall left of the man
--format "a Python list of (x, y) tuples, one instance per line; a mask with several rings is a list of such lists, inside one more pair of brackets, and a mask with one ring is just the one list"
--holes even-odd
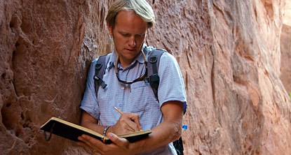
[(15, 0), (0, 8), (0, 152), (82, 152), (57, 136), (45, 142), (39, 127), (52, 116), (79, 124), (90, 61), (110, 48), (108, 2)]

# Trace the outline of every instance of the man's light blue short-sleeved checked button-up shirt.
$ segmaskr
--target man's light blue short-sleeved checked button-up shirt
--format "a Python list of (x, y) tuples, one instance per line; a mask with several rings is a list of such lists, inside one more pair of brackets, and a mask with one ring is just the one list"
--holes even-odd
[[(144, 53), (147, 56), (147, 52)], [(160, 59), (158, 66), (160, 77), (158, 100), (148, 82), (140, 81), (130, 85), (119, 82), (114, 71), (115, 60), (116, 52), (112, 52), (103, 77), (107, 89), (100, 87), (97, 97), (93, 80), (97, 59), (91, 63), (86, 91), (83, 101), (81, 101), (80, 108), (97, 119), (100, 125), (112, 126), (116, 124), (121, 115), (114, 109), (115, 106), (122, 112), (138, 114), (142, 130), (152, 129), (163, 121), (161, 112), (163, 103), (167, 101), (186, 103), (182, 73), (172, 54), (164, 52)], [(118, 64), (119, 78), (124, 81), (133, 81), (145, 72), (145, 66), (142, 54), (139, 54), (137, 59), (126, 68)], [(170, 143), (168, 146), (149, 152), (149, 154), (176, 154), (176, 151)]]

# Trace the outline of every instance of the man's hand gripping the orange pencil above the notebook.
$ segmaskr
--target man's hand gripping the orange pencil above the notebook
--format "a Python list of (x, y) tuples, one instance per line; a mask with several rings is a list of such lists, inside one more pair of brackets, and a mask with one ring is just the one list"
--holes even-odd
[(111, 126), (107, 133), (114, 133), (116, 135), (132, 133), (140, 131), (140, 117), (135, 113), (123, 113), (114, 126)]

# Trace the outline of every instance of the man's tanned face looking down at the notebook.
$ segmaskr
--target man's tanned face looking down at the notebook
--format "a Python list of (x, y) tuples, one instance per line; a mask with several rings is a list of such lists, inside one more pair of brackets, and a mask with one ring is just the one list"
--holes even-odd
[(113, 36), (116, 52), (123, 68), (131, 64), (140, 53), (147, 34), (147, 22), (134, 11), (121, 10), (116, 15), (115, 27), (107, 24)]

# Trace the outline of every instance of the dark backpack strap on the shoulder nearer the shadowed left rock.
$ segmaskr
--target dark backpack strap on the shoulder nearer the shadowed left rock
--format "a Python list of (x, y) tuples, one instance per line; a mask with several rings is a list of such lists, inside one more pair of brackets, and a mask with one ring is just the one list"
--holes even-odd
[(95, 64), (95, 75), (94, 75), (94, 84), (95, 84), (95, 93), (96, 96), (98, 94), (99, 87), (102, 89), (106, 89), (107, 84), (103, 81), (103, 75), (105, 73), (105, 69), (111, 54), (106, 54), (98, 58)]

